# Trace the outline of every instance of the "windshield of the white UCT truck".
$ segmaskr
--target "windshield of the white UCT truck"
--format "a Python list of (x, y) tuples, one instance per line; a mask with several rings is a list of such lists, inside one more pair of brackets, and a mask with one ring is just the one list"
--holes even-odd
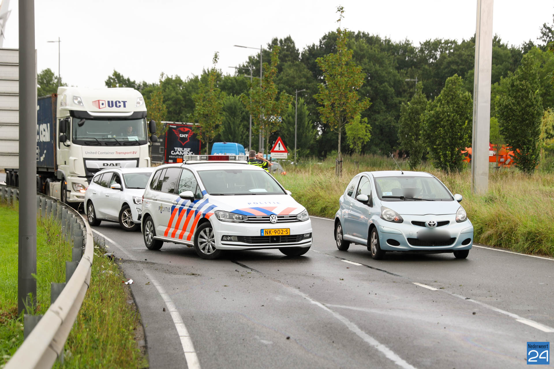
[(73, 142), (79, 145), (127, 146), (143, 145), (148, 142), (144, 118), (73, 118), (72, 131)]

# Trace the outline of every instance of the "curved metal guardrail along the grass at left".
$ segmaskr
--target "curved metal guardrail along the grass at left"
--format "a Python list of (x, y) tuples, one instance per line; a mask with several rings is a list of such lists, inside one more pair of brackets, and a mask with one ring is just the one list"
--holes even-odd
[[(2, 201), (13, 204), (18, 196), (17, 188), (0, 185)], [(51, 215), (61, 221), (66, 240), (74, 241), (74, 261), (66, 262), (65, 287), (55, 300), (52, 298), (52, 304), (30, 334), (25, 337), (23, 344), (8, 361), (5, 369), (52, 368), (56, 358), (63, 358), (65, 341), (83, 304), (86, 290), (89, 288), (94, 238), (88, 222), (78, 211), (42, 194), (37, 194), (37, 210), (40, 210), (41, 216)], [(75, 251), (79, 250), (79, 247), (75, 246), (78, 246), (79, 242), (81, 242), (82, 256), (76, 264), (78, 253)], [(72, 274), (71, 271), (73, 271)], [(71, 276), (69, 277), (68, 274)]]

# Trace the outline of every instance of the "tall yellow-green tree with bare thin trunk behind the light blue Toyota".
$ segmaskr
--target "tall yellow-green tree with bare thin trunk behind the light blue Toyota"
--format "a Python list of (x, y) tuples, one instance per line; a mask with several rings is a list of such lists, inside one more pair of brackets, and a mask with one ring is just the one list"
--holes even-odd
[[(343, 18), (344, 9), (339, 6), (337, 13)], [(369, 98), (359, 100), (357, 90), (363, 84), (365, 75), (360, 66), (352, 61), (353, 51), (347, 49), (348, 32), (338, 27), (337, 49), (335, 54), (317, 58), (317, 65), (323, 72), (324, 82), (318, 86), (319, 93), (314, 95), (321, 106), (317, 107), (321, 121), (329, 124), (338, 132), (338, 152), (336, 175), (342, 175), (341, 133), (345, 124), (370, 106)]]

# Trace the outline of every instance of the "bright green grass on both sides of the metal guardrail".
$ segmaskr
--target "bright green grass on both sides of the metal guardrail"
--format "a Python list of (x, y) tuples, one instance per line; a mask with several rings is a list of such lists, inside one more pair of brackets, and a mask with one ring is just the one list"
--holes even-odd
[[(18, 209), (0, 205), (0, 365), (6, 363), (23, 341), (22, 318), (17, 315)], [(50, 305), (50, 282), (65, 281), (65, 261), (71, 260), (71, 245), (60, 236), (60, 224), (38, 219), (37, 224), (37, 314)], [(135, 330), (140, 316), (129, 289), (121, 283), (117, 263), (102, 257), (95, 245), (90, 288), (68, 340), (63, 368), (138, 368), (148, 362), (137, 347)], [(104, 273), (102, 273), (104, 272)]]

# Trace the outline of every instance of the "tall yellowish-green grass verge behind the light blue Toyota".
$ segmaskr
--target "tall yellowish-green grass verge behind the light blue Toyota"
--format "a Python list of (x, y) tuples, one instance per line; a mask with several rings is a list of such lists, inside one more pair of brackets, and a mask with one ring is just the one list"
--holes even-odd
[[(356, 165), (354, 162), (358, 162)], [(400, 161), (402, 169), (407, 163)], [(343, 176), (335, 176), (335, 160), (306, 160), (285, 166), (276, 174), (311, 215), (334, 218), (338, 198), (348, 181), (361, 171), (397, 169), (393, 160), (376, 155), (343, 158)], [(446, 174), (424, 163), (418, 170), (437, 176), (453, 193), (464, 196), (461, 205), (474, 225), (475, 242), (529, 254), (554, 256), (554, 174), (537, 171), (527, 176), (516, 169), (491, 169), (485, 195), (471, 193), (469, 168)]]

